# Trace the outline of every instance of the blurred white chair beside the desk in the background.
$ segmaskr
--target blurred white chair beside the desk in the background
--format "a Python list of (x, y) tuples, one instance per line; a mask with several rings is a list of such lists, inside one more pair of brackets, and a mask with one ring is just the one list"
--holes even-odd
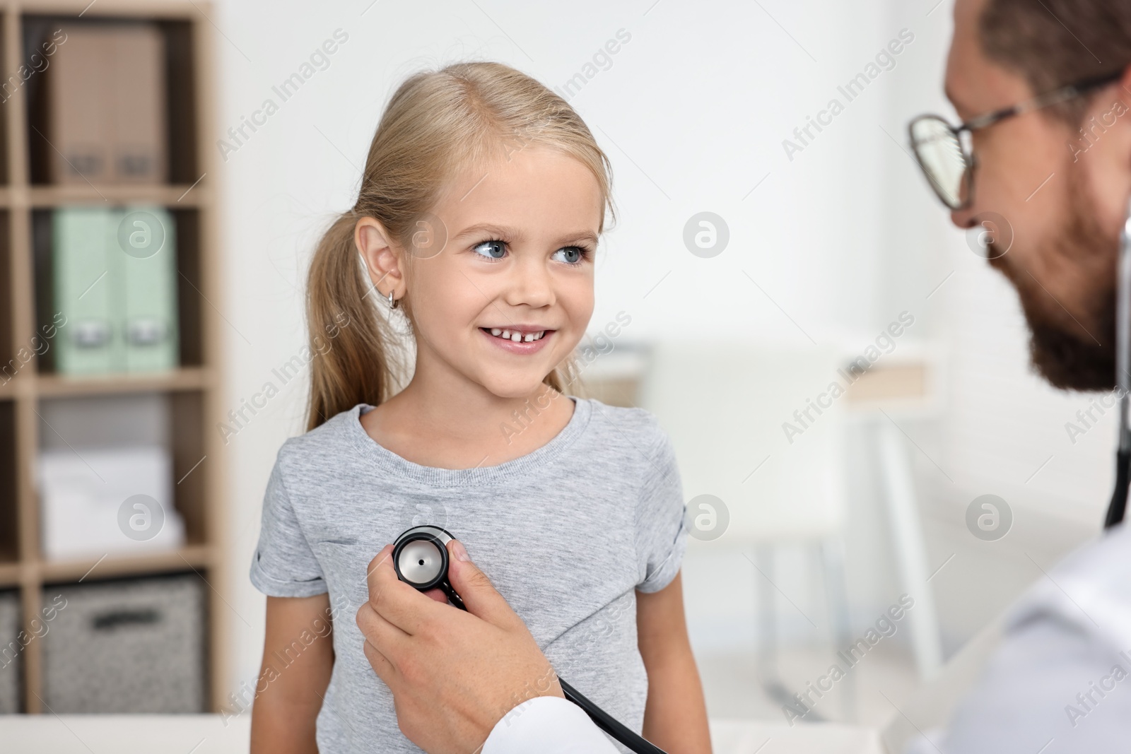
[[(775, 670), (776, 548), (800, 545), (819, 552), (830, 639), (839, 647), (851, 641), (841, 536), (845, 399), (829, 390), (832, 383), (844, 387), (838, 366), (835, 352), (818, 347), (661, 343), (651, 350), (640, 388), (639, 405), (657, 416), (675, 448), (689, 518), (698, 517), (701, 527), (710, 529), (715, 517), (714, 526), (723, 529), (703, 532), (719, 536), (692, 539), (691, 547), (753, 553), (746, 560), (760, 573), (756, 580), (761, 582), (757, 617), (762, 684), (782, 703), (793, 700)], [(701, 494), (720, 499), (726, 512), (697, 502)], [(724, 526), (726, 514), (729, 520)], [(855, 717), (852, 676), (844, 695), (848, 719)]]

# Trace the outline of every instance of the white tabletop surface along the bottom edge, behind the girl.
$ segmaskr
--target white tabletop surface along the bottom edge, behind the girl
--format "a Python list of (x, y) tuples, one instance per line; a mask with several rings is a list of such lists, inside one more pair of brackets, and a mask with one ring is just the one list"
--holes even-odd
[[(251, 716), (0, 716), (6, 754), (247, 754)], [(715, 754), (883, 754), (875, 730), (841, 725), (713, 720)]]

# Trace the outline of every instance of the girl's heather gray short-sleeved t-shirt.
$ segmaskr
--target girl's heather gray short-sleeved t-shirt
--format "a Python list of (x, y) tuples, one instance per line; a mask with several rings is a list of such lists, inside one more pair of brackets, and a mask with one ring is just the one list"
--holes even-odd
[[(392, 695), (365, 659), (354, 615), (369, 598), (370, 561), (422, 523), (464, 543), (559, 676), (641, 729), (648, 678), (634, 590), (658, 591), (680, 570), (687, 529), (679, 470), (647, 411), (571, 400), (573, 416), (553, 440), (498, 466), (407, 461), (365, 433), (365, 405), (279, 450), (251, 582), (273, 597), (329, 592), (336, 659), (318, 716), (320, 751), (421, 751), (397, 727)], [(286, 673), (317, 629), (274, 658), (276, 671)]]

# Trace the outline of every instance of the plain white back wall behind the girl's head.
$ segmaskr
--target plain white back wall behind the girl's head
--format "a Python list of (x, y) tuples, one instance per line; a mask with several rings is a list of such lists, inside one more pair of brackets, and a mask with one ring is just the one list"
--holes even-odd
[[(803, 339), (743, 269), (814, 338), (873, 319), (881, 210), (869, 197), (880, 177), (860, 166), (883, 145), (861, 122), (882, 106), (880, 93), (866, 92), (793, 163), (780, 141), (835, 96), (843, 71), (896, 35), (877, 6), (763, 3), (794, 42), (744, 3), (366, 5), (218, 5), (221, 132), (274, 97), (271, 86), (335, 29), (348, 34), (327, 70), (226, 155), (223, 311), (232, 323), (233, 405), (302, 345), (310, 250), (330, 215), (352, 203), (381, 106), (400, 79), (473, 58), (562, 85), (621, 28), (631, 41), (572, 99), (613, 159), (621, 213), (598, 267), (594, 322), (623, 309), (634, 338)], [(709, 260), (682, 244), (684, 222), (703, 209), (732, 231), (731, 246)], [(228, 447), (242, 677), (256, 670), (262, 604), (242, 565), (274, 453), (301, 428), (302, 398), (301, 385), (288, 385)]]

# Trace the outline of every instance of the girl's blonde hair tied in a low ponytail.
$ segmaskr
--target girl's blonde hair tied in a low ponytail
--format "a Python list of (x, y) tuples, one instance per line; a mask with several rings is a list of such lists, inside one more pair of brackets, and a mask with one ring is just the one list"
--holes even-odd
[[(380, 293), (354, 244), (356, 222), (373, 217), (408, 248), (416, 222), (458, 172), (529, 145), (588, 167), (613, 216), (608, 158), (573, 109), (529, 76), (501, 63), (456, 63), (416, 73), (396, 90), (369, 147), (357, 201), (334, 220), (310, 265), (307, 326), (319, 355), (311, 362), (308, 430), (356, 404), (388, 400), (405, 374), (405, 353), (377, 311)], [(322, 332), (334, 333), (328, 349), (319, 347)], [(561, 391), (571, 371), (560, 365), (544, 382)]]

